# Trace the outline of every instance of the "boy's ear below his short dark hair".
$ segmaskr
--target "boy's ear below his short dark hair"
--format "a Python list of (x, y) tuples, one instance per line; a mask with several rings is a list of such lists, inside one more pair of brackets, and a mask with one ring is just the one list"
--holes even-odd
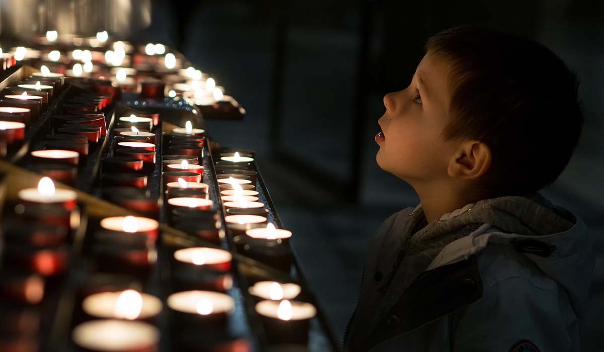
[(481, 141), (466, 141), (449, 162), (448, 174), (456, 179), (478, 179), (489, 170), (492, 155)]

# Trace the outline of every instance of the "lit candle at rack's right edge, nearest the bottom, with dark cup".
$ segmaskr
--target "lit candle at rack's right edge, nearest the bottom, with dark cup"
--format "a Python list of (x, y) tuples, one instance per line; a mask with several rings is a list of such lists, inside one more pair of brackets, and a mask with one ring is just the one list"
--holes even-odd
[(310, 319), (316, 315), (315, 306), (306, 302), (266, 300), (258, 302), (255, 310), (262, 316), (269, 341), (274, 343), (306, 343)]

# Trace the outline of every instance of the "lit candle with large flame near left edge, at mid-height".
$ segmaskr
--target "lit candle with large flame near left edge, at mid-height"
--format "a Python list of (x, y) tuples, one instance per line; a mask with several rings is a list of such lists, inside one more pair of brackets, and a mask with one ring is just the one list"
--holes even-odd
[(62, 205), (66, 210), (73, 210), (77, 204), (77, 193), (72, 190), (56, 189), (53, 180), (43, 177), (37, 188), (25, 188), (18, 193), (24, 203)]

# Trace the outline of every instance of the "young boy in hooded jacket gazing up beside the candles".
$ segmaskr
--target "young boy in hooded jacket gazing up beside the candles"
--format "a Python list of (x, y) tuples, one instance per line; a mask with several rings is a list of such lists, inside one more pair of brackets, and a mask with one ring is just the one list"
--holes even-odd
[(384, 105), (377, 164), (421, 203), (374, 238), (345, 350), (579, 351), (593, 246), (537, 193), (579, 139), (576, 77), (536, 42), (458, 27)]

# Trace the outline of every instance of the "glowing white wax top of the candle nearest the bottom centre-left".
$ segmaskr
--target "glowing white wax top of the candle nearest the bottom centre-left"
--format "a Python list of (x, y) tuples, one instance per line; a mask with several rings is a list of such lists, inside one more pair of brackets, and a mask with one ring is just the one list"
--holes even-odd
[(191, 314), (229, 313), (235, 309), (235, 301), (231, 296), (211, 291), (177, 292), (168, 296), (167, 302), (171, 309)]

